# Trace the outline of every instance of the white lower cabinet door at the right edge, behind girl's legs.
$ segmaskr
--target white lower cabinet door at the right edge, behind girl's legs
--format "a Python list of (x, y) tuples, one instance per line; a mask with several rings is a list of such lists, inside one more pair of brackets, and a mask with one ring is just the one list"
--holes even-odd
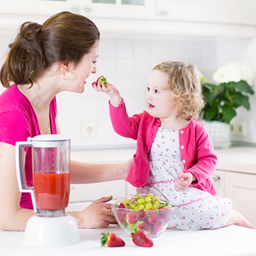
[(225, 197), (256, 227), (256, 175), (225, 172)]

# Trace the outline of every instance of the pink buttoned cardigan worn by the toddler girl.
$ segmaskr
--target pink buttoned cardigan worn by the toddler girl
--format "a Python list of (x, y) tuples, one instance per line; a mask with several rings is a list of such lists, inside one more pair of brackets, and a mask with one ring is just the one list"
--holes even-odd
[[(109, 102), (109, 111), (113, 130), (122, 137), (137, 140), (137, 151), (125, 180), (137, 188), (142, 187), (148, 180), (148, 152), (160, 127), (160, 120), (146, 111), (129, 117), (124, 101), (116, 108)], [(190, 119), (188, 125), (179, 130), (179, 145), (184, 172), (191, 172), (197, 179), (190, 186), (217, 195), (209, 178), (215, 170), (217, 156), (205, 126), (196, 119)]]

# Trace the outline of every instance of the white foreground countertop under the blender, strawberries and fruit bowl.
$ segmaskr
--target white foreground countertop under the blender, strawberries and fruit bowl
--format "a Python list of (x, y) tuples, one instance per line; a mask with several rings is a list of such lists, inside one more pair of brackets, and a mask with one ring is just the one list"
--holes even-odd
[[(125, 247), (101, 247), (102, 232), (113, 232), (125, 241)], [(247, 256), (256, 255), (256, 230), (231, 225), (218, 230), (166, 230), (154, 238), (154, 246), (137, 247), (118, 225), (107, 229), (79, 230), (81, 243), (68, 247), (29, 247), (22, 243), (24, 232), (0, 230), (0, 255), (175, 255), (175, 256)], [(136, 254), (135, 254), (136, 253)]]

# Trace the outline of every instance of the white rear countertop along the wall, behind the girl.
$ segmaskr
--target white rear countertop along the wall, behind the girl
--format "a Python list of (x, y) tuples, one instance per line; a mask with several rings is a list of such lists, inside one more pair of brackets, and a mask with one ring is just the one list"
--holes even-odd
[[(99, 149), (72, 151), (71, 159), (85, 162), (125, 162), (132, 158), (136, 148)], [(218, 170), (256, 174), (256, 148), (231, 147), (216, 149)]]

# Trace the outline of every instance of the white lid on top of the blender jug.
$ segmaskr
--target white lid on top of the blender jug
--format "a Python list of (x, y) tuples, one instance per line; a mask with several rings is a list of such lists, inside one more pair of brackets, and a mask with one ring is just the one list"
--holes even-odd
[(36, 137), (28, 137), (27, 141), (32, 142), (33, 147), (37, 148), (63, 147), (70, 144), (70, 139), (61, 134), (43, 134)]

